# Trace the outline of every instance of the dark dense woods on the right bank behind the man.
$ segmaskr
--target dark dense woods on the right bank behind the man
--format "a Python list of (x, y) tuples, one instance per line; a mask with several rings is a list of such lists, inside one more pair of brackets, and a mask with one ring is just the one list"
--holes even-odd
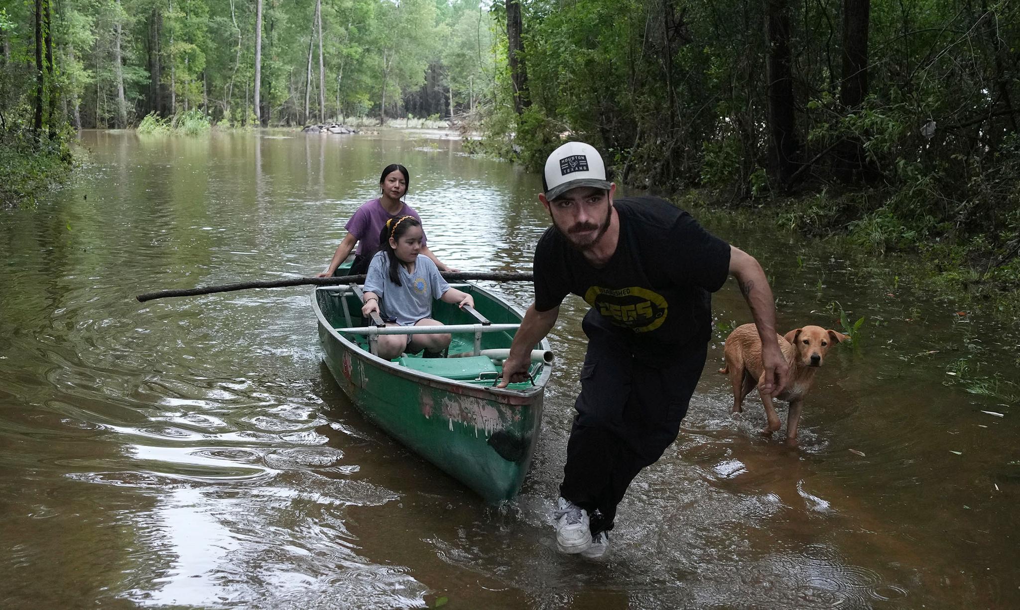
[(584, 140), (618, 180), (1020, 286), (1020, 3), (519, 3), (527, 103), (503, 61), (489, 150)]

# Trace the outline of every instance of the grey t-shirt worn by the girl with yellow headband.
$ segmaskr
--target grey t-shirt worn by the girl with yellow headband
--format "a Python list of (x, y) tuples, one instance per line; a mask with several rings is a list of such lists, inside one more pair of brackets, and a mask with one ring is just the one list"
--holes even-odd
[(450, 289), (436, 263), (425, 255), (418, 255), (414, 273), (408, 273), (403, 265), (400, 283), (390, 281), (390, 255), (385, 251), (375, 253), (368, 265), (365, 278), (365, 292), (379, 295), (379, 311), (384, 320), (396, 321), (401, 326), (413, 326), (418, 320), (432, 315), (432, 299), (440, 298)]

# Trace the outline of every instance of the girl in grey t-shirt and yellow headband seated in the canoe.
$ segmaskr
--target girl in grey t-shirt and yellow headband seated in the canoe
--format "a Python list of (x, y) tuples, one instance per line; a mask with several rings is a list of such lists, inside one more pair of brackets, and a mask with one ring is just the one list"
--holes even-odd
[[(362, 315), (377, 312), (388, 326), (438, 326), (442, 323), (430, 318), (434, 298), (474, 307), (471, 295), (451, 288), (436, 264), (422, 254), (424, 235), (413, 216), (387, 221), (379, 232), (382, 248), (368, 266)], [(379, 335), (377, 350), (385, 359), (421, 349), (425, 357), (438, 357), (449, 345), (449, 334)]]

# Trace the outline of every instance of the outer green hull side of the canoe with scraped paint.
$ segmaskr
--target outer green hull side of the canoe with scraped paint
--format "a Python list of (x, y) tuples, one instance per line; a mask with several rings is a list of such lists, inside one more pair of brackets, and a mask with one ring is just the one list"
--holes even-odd
[(550, 367), (525, 391), (422, 374), (373, 356), (337, 333), (314, 294), (312, 301), (326, 366), (359, 410), (487, 501), (517, 494), (538, 442)]

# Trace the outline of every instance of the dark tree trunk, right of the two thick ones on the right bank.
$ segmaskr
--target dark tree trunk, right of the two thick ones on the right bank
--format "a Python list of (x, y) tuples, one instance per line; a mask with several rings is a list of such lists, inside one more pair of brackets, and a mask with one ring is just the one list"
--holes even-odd
[[(856, 112), (868, 95), (868, 21), (871, 0), (843, 2), (843, 80), (839, 103), (845, 112)], [(835, 174), (844, 183), (857, 182), (865, 164), (859, 138), (844, 138), (835, 151)]]

